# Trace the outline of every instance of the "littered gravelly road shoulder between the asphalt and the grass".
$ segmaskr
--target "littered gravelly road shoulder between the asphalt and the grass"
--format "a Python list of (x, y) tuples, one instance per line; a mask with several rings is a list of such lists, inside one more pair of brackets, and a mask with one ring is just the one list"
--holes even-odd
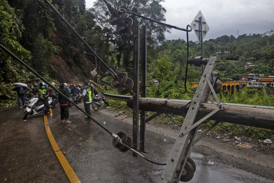
[[(122, 115), (115, 117), (118, 112), (106, 108), (102, 108), (98, 112), (119, 120), (123, 117)], [(132, 117), (124, 118), (122, 121), (132, 124)], [(146, 124), (146, 130), (176, 139), (180, 128), (166, 124), (148, 123)], [(270, 173), (274, 171), (273, 147), (258, 149), (260, 146), (254, 143), (239, 142), (239, 144), (236, 144), (233, 138), (222, 136), (217, 139), (216, 137), (216, 135), (210, 135), (202, 138), (194, 145), (193, 151), (201, 154), (212, 154), (212, 156), (219, 157), (227, 164), (274, 180), (274, 175)]]

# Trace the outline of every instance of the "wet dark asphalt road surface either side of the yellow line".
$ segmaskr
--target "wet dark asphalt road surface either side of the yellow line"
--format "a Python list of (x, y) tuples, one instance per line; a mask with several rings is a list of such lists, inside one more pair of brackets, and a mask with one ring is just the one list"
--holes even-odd
[[(166, 182), (160, 178), (165, 166), (113, 148), (112, 137), (94, 122), (85, 122), (85, 116), (75, 107), (70, 108), (71, 124), (61, 124), (59, 112), (57, 107), (53, 109), (53, 117), (48, 116), (49, 127), (82, 183)], [(104, 126), (111, 132), (124, 131), (132, 137), (130, 124), (100, 110), (92, 110), (91, 114), (101, 124), (106, 122)], [(26, 121), (22, 117), (23, 109), (17, 107), (0, 111), (0, 182), (70, 182), (49, 142), (43, 115), (28, 116)], [(145, 156), (166, 162), (174, 142), (175, 139), (147, 130)], [(274, 182), (224, 163), (220, 156), (211, 156), (209, 150), (201, 154), (192, 152), (191, 158), (196, 163), (196, 172), (189, 182)], [(209, 160), (214, 165), (207, 164)], [(270, 174), (272, 170), (269, 169)]]

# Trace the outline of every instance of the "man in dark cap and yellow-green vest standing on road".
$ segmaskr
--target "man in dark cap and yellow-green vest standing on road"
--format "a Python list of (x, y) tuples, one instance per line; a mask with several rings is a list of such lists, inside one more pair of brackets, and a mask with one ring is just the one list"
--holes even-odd
[[(91, 91), (91, 89), (90, 89), (90, 87), (88, 85), (88, 81), (84, 81), (83, 93), (82, 93), (82, 96), (80, 96), (78, 98), (78, 100), (80, 100), (81, 98), (84, 98), (85, 111), (90, 116), (91, 116), (91, 113), (90, 113), (90, 104), (92, 102), (92, 98), (91, 97), (94, 97), (94, 93), (92, 93), (92, 91)], [(90, 117), (85, 118), (85, 121), (90, 121), (90, 120), (91, 120)]]

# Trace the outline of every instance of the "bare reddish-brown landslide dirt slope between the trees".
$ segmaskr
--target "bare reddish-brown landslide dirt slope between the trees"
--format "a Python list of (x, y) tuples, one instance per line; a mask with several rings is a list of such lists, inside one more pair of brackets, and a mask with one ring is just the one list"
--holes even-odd
[[(83, 81), (89, 78), (92, 78), (92, 75), (82, 75), (81, 71), (76, 65), (69, 66), (68, 57), (64, 54), (64, 44), (62, 39), (59, 37), (58, 33), (51, 30), (51, 38), (49, 41), (53, 42), (55, 46), (59, 46), (60, 52), (58, 55), (53, 55), (52, 57), (52, 65), (56, 71), (53, 71), (51, 67), (49, 67), (50, 75), (53, 79), (57, 79), (60, 82), (70, 82), (72, 80)], [(82, 63), (85, 65), (88, 70), (92, 71), (95, 68), (95, 65), (91, 64), (85, 57), (81, 59)]]

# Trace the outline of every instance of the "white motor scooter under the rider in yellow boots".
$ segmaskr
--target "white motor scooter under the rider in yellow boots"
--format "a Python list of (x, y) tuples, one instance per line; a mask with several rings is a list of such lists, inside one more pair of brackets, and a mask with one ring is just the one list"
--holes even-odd
[[(29, 93), (29, 94), (31, 94), (31, 93)], [(25, 120), (28, 115), (41, 114), (41, 113), (43, 113), (47, 110), (47, 108), (45, 107), (43, 101), (40, 101), (40, 102), (37, 103), (37, 101), (39, 99), (38, 97), (28, 96), (28, 98), (30, 98), (30, 100), (25, 102), (25, 106), (24, 106), (25, 107), (25, 112), (24, 112), (23, 120)], [(50, 108), (52, 108), (52, 106), (51, 106), (52, 98), (49, 97), (48, 99), (49, 99)]]

